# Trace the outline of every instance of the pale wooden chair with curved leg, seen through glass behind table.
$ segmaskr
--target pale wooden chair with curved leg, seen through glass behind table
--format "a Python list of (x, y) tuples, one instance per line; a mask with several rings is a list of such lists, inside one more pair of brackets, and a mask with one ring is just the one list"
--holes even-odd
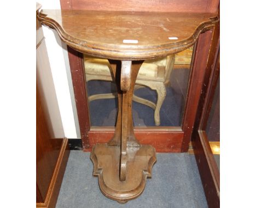
[[(175, 55), (165, 58), (145, 60), (139, 69), (135, 83), (135, 90), (144, 86), (156, 90), (158, 95), (156, 103), (133, 95), (133, 101), (142, 103), (154, 109), (155, 125), (160, 125), (160, 108), (165, 100), (166, 86), (170, 85), (170, 75), (173, 69)], [(114, 82), (111, 66), (107, 59), (88, 57), (84, 54), (84, 68), (86, 82), (91, 80), (102, 80)], [(89, 102), (97, 99), (110, 99), (117, 97), (117, 93), (96, 94), (89, 96)]]

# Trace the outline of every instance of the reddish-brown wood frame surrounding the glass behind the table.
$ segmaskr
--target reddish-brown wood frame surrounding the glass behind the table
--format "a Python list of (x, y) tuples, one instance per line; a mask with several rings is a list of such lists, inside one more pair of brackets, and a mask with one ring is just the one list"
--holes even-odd
[[(86, 3), (87, 2), (87, 3)], [(150, 1), (152, 2), (152, 1)], [(218, 0), (208, 1), (207, 4), (201, 1), (200, 5), (194, 5), (197, 7), (196, 12), (211, 12), (217, 13)], [(103, 5), (109, 5), (108, 3), (104, 4), (104, 1), (101, 2)], [(131, 2), (130, 2), (131, 3)], [(176, 5), (170, 9), (170, 1), (162, 2), (166, 4), (166, 11), (180, 11), (179, 3), (180, 1), (175, 0), (173, 5)], [(149, 3), (150, 4), (150, 3)], [(152, 4), (155, 4), (153, 2)], [(62, 9), (95, 9), (90, 3), (88, 7), (87, 0), (73, 0), (62, 1)], [(112, 5), (111, 10), (119, 10), (120, 5)], [(135, 7), (135, 5), (133, 5)], [(168, 9), (168, 8), (169, 9)], [(127, 7), (128, 8), (128, 7)], [(138, 7), (136, 7), (138, 8)], [(184, 4), (183, 10), (189, 12), (191, 5)], [(129, 10), (129, 9), (128, 9)], [(151, 7), (148, 5), (148, 11), (155, 10), (155, 6)], [(182, 11), (183, 11), (182, 10)], [(190, 11), (191, 12), (191, 11)], [(213, 30), (208, 30), (205, 33), (200, 34), (199, 39), (197, 40), (194, 50), (193, 64), (191, 65), (190, 70), (190, 79), (189, 79), (189, 88), (187, 101), (185, 103), (183, 122), (181, 127), (147, 127), (138, 128), (135, 127), (135, 136), (141, 144), (150, 144), (153, 145), (157, 152), (187, 152), (189, 148), (189, 141), (191, 138), (191, 133), (193, 131), (196, 109), (199, 103), (200, 94), (202, 90), (203, 77), (205, 77), (205, 69), (207, 66), (207, 57), (211, 46)], [(68, 47), (68, 56), (69, 64), (71, 68), (72, 82), (74, 88), (74, 96), (77, 105), (78, 120), (80, 126), (80, 133), (82, 138), (83, 150), (91, 151), (91, 148), (96, 143), (106, 143), (114, 134), (114, 128), (107, 127), (90, 127), (89, 121), (89, 108), (88, 108), (88, 98), (86, 93), (85, 85), (85, 73), (83, 65), (83, 55), (80, 52), (73, 50), (71, 47)], [(156, 139), (157, 138), (157, 139)]]

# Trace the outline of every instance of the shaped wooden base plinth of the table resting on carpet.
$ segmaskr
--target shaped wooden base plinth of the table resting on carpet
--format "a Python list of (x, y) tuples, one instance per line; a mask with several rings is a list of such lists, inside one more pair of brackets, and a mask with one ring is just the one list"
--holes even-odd
[(120, 146), (96, 144), (91, 151), (91, 160), (94, 163), (93, 175), (98, 177), (101, 192), (109, 199), (123, 204), (143, 192), (146, 179), (151, 178), (156, 154), (151, 145), (127, 148), (125, 181), (119, 178)]

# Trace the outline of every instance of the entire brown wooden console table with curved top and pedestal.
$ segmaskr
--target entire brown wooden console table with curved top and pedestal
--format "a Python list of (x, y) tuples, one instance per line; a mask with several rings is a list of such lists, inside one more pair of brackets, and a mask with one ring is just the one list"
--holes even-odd
[(154, 147), (139, 144), (133, 132), (132, 95), (138, 70), (146, 59), (187, 49), (218, 17), (85, 10), (41, 10), (37, 17), (74, 50), (109, 60), (117, 83), (118, 118), (114, 137), (92, 148), (94, 176), (110, 199), (126, 203), (138, 197), (156, 162)]

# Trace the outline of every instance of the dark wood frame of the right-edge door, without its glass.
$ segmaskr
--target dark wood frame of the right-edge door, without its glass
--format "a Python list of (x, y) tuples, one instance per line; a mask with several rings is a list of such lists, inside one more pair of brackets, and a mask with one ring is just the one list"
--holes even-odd
[(203, 81), (202, 94), (197, 108), (196, 120), (191, 139), (209, 207), (220, 206), (220, 174), (205, 131), (215, 89), (218, 83), (220, 70), (219, 48), (218, 22), (213, 32), (213, 40), (208, 57), (206, 74)]

